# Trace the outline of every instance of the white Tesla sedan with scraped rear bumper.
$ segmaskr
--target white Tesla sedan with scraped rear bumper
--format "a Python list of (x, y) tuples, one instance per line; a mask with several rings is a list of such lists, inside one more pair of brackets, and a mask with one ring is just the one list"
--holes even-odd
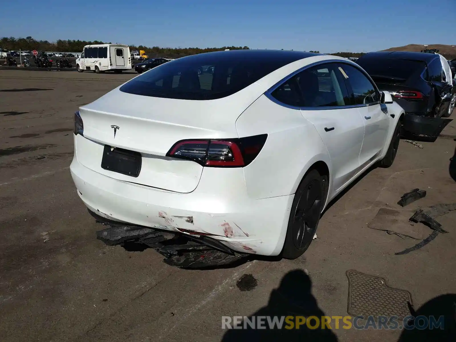
[(81, 107), (71, 174), (103, 218), (296, 258), (329, 201), (393, 163), (403, 114), (346, 58), (204, 53)]

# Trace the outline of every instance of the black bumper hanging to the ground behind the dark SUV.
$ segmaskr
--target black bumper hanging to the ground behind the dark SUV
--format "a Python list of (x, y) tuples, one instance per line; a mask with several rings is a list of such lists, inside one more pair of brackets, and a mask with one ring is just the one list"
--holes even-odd
[(404, 116), (403, 130), (414, 135), (437, 137), (451, 120), (408, 113)]

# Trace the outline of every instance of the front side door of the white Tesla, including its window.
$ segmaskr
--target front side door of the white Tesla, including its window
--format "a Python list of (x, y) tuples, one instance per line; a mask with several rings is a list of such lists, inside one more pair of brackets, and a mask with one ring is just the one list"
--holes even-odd
[(341, 63), (340, 67), (352, 100), (358, 106), (359, 115), (365, 124), (363, 146), (359, 154), (359, 163), (363, 169), (381, 154), (390, 118), (386, 106), (380, 104), (377, 87), (369, 78), (355, 66)]

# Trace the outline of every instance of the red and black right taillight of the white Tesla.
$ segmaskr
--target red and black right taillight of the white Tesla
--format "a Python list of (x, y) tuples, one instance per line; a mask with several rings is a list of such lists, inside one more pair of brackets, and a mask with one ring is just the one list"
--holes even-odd
[(196, 161), (202, 166), (243, 167), (256, 158), (267, 137), (267, 134), (262, 134), (235, 139), (181, 140), (166, 156)]

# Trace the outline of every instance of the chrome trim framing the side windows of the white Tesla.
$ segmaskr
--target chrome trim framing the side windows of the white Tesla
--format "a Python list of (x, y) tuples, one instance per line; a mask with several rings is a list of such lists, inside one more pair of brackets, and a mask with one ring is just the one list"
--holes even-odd
[[(373, 102), (371, 104), (348, 104), (348, 105), (345, 105), (345, 106), (325, 106), (325, 107), (296, 107), (296, 106), (292, 106), (290, 104), (284, 104), (283, 102), (280, 102), (278, 99), (276, 99), (274, 96), (272, 96), (272, 92), (274, 92), (275, 89), (279, 88), (283, 83), (285, 83), (286, 81), (288, 81), (290, 78), (292, 78), (293, 76), (295, 76), (296, 74), (298, 73), (301, 73), (301, 71), (303, 70), (306, 70), (310, 67), (315, 67), (317, 65), (320, 65), (320, 64), (329, 64), (329, 63), (342, 63), (342, 64), (348, 64), (348, 65), (351, 65), (352, 67), (355, 67), (357, 68), (361, 73), (363, 73), (364, 76), (366, 76), (368, 78), (368, 80), (373, 84), (374, 86), (374, 90), (376, 90), (378, 92), (379, 95), (381, 95), (381, 92), (380, 90), (378, 90), (377, 88), (377, 85), (375, 84), (375, 82), (373, 82), (372, 78), (368, 75), (368, 73), (366, 73), (362, 68), (359, 67), (358, 64), (354, 63), (354, 62), (350, 62), (350, 61), (344, 61), (344, 60), (340, 60), (340, 59), (327, 59), (327, 60), (324, 60), (324, 61), (318, 61), (318, 62), (314, 62), (314, 63), (311, 63), (311, 64), (308, 64), (304, 67), (301, 67), (297, 70), (295, 70), (293, 73), (290, 73), (289, 75), (285, 76), (284, 78), (282, 78), (279, 82), (275, 83), (271, 88), (269, 88), (265, 93), (264, 95), (269, 98), (269, 100), (271, 100), (272, 102), (274, 102), (275, 104), (279, 104), (280, 106), (282, 107), (285, 107), (285, 108), (290, 108), (290, 109), (299, 109), (299, 110), (331, 110), (331, 109), (349, 109), (349, 108), (360, 108), (360, 107), (369, 107), (369, 106), (374, 106), (374, 105), (377, 105), (377, 104), (380, 104), (380, 101), (376, 101), (376, 102)], [(380, 96), (381, 97), (381, 96)]]

